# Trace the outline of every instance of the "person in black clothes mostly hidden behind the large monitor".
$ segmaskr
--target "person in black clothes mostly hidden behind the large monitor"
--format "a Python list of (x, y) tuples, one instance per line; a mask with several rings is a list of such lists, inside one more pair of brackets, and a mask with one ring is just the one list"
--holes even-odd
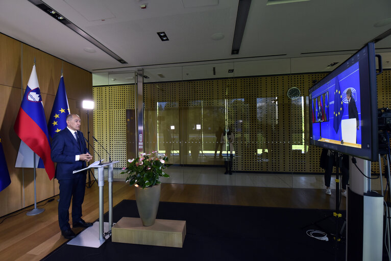
[[(333, 171), (335, 162), (334, 152), (327, 149), (322, 149), (320, 167), (325, 169), (325, 185), (326, 185), (326, 194), (331, 195), (331, 172)], [(343, 154), (341, 168), (339, 169), (339, 173), (342, 176), (342, 186), (341, 186), (341, 194), (346, 197), (346, 185), (349, 182), (349, 156)]]

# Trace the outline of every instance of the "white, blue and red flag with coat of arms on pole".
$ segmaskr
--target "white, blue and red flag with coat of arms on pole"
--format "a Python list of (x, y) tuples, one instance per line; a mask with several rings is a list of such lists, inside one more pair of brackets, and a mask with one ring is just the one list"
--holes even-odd
[(35, 64), (16, 117), (14, 130), (19, 138), (43, 160), (47, 176), (52, 180), (55, 169)]

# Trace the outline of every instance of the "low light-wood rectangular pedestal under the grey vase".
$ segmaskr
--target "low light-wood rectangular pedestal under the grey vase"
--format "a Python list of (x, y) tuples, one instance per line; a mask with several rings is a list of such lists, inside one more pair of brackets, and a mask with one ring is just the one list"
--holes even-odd
[(182, 247), (186, 221), (157, 219), (145, 227), (139, 218), (121, 218), (111, 228), (111, 241), (163, 247)]

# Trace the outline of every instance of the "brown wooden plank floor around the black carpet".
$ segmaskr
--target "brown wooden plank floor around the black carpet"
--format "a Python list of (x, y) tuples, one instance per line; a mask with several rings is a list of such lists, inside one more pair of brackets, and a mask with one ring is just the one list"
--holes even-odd
[[(107, 185), (105, 184), (105, 212), (108, 210)], [(58, 226), (58, 196), (54, 201), (38, 203), (45, 211), (36, 216), (27, 216), (22, 209), (0, 218), (0, 260), (40, 260), (67, 240), (61, 236)], [(134, 187), (125, 182), (113, 182), (113, 205), (123, 199), (135, 199)], [(191, 184), (162, 184), (161, 201), (205, 204), (319, 208), (335, 209), (335, 191), (327, 196), (324, 189), (240, 187)], [(40, 205), (43, 205), (39, 207)], [(346, 208), (346, 199), (341, 199), (340, 209)], [(22, 212), (23, 211), (23, 212)], [(20, 213), (19, 215), (17, 215)], [(10, 217), (16, 215), (14, 217)], [(9, 218), (7, 218), (9, 217)], [(5, 219), (7, 218), (7, 219)], [(86, 188), (83, 203), (83, 219), (87, 222), (99, 218), (98, 187)], [(71, 222), (71, 221), (70, 221)], [(73, 229), (78, 233), (82, 228)]]

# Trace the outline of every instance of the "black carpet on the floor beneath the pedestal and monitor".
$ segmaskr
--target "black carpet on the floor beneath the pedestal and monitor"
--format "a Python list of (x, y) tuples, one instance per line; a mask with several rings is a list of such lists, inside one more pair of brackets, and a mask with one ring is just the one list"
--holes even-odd
[[(312, 223), (332, 212), (160, 202), (158, 219), (186, 221), (183, 248), (114, 243), (109, 238), (100, 248), (64, 244), (42, 260), (345, 260), (344, 241), (336, 243), (328, 235), (326, 242), (306, 234), (308, 229), (321, 230)], [(135, 201), (123, 200), (114, 207), (113, 221), (122, 217), (139, 217)], [(317, 224), (326, 232), (336, 230), (334, 217)]]

